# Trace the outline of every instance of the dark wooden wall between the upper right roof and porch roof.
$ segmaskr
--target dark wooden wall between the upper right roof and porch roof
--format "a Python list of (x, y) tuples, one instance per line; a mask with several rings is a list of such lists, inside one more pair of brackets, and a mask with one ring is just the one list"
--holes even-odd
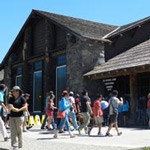
[(116, 37), (112, 37), (110, 39), (112, 43), (105, 44), (106, 61), (148, 40), (150, 37), (149, 26), (150, 26), (150, 21), (142, 25), (136, 26), (135, 28), (128, 30)]

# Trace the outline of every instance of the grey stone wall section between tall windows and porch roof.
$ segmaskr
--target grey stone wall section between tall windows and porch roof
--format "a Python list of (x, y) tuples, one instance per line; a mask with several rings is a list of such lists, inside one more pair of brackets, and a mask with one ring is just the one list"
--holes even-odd
[(67, 46), (67, 88), (75, 93), (81, 93), (83, 89), (89, 91), (94, 98), (97, 93), (103, 93), (101, 81), (90, 80), (83, 75), (92, 70), (104, 60), (104, 46), (93, 41), (81, 41), (77, 39)]

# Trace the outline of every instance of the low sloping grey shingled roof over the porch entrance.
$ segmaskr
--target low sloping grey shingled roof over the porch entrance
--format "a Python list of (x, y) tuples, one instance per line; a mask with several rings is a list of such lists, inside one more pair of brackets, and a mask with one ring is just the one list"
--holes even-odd
[(147, 40), (126, 52), (123, 52), (108, 62), (95, 67), (92, 71), (85, 74), (85, 76), (101, 74), (110, 71), (128, 69), (143, 65), (150, 65), (150, 40)]

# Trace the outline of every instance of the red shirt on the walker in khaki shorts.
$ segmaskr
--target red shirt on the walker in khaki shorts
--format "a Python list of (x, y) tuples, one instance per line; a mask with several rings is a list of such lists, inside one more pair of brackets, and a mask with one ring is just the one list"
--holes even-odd
[(103, 115), (103, 111), (101, 109), (101, 105), (100, 105), (100, 101), (99, 100), (95, 100), (94, 101), (94, 104), (93, 104), (93, 115), (94, 115), (94, 117)]

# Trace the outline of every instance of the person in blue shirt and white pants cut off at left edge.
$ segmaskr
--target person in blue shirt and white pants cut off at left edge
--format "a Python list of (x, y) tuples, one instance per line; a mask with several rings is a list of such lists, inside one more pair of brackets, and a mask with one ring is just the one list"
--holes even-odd
[(6, 127), (4, 125), (4, 121), (2, 119), (2, 108), (3, 111), (7, 113), (7, 108), (4, 104), (4, 92), (6, 91), (6, 86), (4, 84), (0, 84), (0, 131), (3, 134), (4, 141), (8, 140), (8, 133)]

